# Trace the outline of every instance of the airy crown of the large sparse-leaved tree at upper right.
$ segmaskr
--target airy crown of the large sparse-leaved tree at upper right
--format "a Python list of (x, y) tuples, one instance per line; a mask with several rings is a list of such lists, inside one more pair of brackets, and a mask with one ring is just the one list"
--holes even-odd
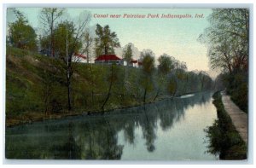
[(209, 46), (212, 68), (223, 72), (247, 71), (249, 42), (248, 9), (212, 9), (208, 27), (199, 40)]

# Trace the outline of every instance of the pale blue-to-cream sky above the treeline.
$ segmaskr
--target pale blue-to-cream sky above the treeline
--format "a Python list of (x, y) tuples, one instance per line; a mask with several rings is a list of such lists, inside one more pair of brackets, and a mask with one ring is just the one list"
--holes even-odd
[[(29, 20), (30, 25), (40, 26), (39, 8), (18, 8)], [(90, 26), (108, 25), (116, 32), (121, 47), (133, 43), (139, 51), (151, 49), (156, 59), (166, 53), (187, 64), (188, 70), (209, 71), (207, 46), (197, 41), (209, 26), (207, 16), (212, 9), (67, 9), (70, 18), (77, 18), (84, 10), (92, 15)], [(98, 15), (108, 14), (107, 18)], [(111, 18), (111, 14), (120, 14)], [(124, 14), (145, 14), (145, 18), (124, 18)], [(157, 15), (158, 14), (158, 15)], [(182, 14), (187, 18), (161, 18), (162, 14)], [(156, 18), (152, 18), (157, 15)], [(195, 16), (201, 17), (195, 17)], [(15, 20), (14, 14), (7, 12), (7, 21)], [(120, 49), (119, 49), (120, 50)], [(121, 57), (121, 53), (116, 53)], [(137, 55), (138, 56), (138, 55)]]

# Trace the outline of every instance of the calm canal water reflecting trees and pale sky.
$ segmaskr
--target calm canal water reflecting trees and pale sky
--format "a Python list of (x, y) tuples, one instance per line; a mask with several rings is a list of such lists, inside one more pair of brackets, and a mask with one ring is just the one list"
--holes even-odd
[(214, 160), (212, 93), (6, 129), (8, 159)]

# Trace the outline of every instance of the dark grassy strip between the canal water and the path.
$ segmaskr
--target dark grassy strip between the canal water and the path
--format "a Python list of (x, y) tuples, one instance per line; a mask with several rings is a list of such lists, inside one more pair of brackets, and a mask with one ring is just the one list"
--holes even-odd
[(218, 119), (206, 130), (210, 139), (208, 152), (219, 154), (219, 159), (247, 159), (247, 145), (224, 110), (220, 92), (216, 92), (212, 97)]

